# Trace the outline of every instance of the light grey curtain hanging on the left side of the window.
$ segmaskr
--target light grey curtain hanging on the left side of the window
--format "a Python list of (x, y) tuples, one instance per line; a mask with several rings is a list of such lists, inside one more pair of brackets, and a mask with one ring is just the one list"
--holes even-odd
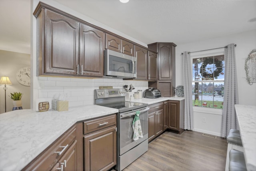
[(193, 130), (193, 107), (192, 107), (192, 70), (190, 54), (183, 52), (183, 79), (184, 79), (184, 129)]

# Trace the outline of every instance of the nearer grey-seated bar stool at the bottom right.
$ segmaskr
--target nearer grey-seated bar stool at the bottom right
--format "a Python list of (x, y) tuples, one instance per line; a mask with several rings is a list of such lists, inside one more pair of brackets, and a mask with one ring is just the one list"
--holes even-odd
[(230, 150), (229, 159), (229, 171), (246, 171), (246, 164), (243, 152)]

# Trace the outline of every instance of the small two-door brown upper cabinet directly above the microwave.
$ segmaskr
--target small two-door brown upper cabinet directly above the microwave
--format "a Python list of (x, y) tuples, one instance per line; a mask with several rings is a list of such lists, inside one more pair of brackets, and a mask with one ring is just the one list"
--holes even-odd
[(134, 56), (134, 44), (116, 36), (106, 34), (106, 49)]

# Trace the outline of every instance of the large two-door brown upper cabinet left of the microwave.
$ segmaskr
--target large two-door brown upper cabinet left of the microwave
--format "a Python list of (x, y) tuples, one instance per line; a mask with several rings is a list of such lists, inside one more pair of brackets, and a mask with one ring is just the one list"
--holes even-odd
[(34, 15), (39, 76), (103, 76), (104, 32), (42, 2)]

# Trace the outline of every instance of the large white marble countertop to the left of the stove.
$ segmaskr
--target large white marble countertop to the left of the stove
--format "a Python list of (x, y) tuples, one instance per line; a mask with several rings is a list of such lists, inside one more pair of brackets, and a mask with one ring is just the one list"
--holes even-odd
[(24, 109), (0, 114), (0, 171), (21, 170), (77, 121), (117, 112), (85, 105), (61, 112)]

